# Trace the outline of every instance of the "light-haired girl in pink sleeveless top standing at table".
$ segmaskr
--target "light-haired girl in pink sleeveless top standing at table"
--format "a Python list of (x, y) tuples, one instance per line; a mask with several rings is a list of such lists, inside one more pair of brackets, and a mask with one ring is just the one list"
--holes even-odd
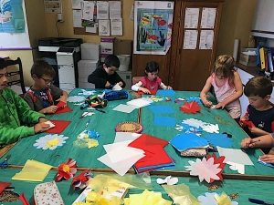
[(243, 85), (234, 68), (232, 56), (221, 55), (216, 58), (212, 75), (207, 78), (200, 95), (205, 107), (212, 106), (212, 102), (206, 99), (206, 93), (211, 87), (214, 88), (218, 102), (216, 108), (226, 108), (229, 115), (238, 121), (241, 116), (239, 97), (243, 95)]

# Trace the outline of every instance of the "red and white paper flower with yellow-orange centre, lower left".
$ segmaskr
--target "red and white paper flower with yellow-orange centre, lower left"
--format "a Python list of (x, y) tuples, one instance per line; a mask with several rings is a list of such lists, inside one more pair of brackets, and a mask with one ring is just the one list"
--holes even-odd
[(55, 178), (55, 181), (60, 181), (61, 179), (70, 179), (73, 178), (77, 172), (77, 163), (74, 159), (68, 159), (67, 162), (64, 162), (58, 166), (58, 174)]

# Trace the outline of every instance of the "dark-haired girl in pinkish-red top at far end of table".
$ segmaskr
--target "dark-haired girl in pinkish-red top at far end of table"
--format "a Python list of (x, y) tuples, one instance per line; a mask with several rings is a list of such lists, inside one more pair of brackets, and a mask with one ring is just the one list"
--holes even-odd
[(143, 93), (151, 94), (150, 90), (158, 89), (159, 87), (163, 89), (172, 89), (172, 87), (165, 86), (160, 77), (158, 77), (159, 64), (155, 61), (150, 61), (146, 64), (144, 69), (145, 77), (132, 86), (133, 91), (142, 91)]

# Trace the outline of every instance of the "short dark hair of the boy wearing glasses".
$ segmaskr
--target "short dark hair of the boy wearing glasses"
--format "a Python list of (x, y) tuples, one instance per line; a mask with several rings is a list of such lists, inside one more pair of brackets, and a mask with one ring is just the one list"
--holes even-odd
[(53, 78), (55, 77), (55, 70), (47, 63), (47, 61), (43, 59), (37, 59), (30, 69), (30, 74), (31, 76), (35, 74), (39, 78), (43, 75)]

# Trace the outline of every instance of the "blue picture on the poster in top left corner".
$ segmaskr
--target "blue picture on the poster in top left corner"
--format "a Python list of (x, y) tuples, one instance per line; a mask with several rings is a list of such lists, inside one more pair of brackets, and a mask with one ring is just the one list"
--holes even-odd
[(22, 0), (0, 1), (0, 33), (25, 33)]

